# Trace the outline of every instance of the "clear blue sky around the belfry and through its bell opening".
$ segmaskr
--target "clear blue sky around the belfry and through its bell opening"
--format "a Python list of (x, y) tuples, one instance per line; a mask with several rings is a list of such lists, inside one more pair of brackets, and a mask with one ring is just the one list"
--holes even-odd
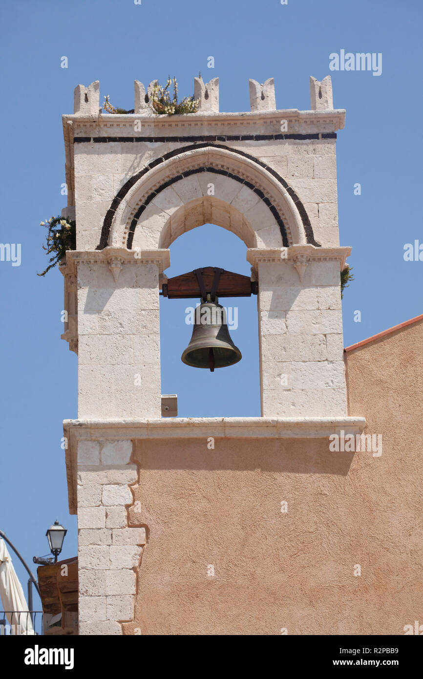
[[(60, 340), (62, 276), (35, 275), (46, 265), (39, 222), (66, 204), (60, 116), (73, 111), (75, 86), (98, 79), (100, 101), (109, 94), (131, 109), (134, 79), (147, 85), (176, 75), (183, 96), (201, 71), (206, 80), (219, 76), (221, 111), (247, 111), (248, 79), (274, 76), (278, 109), (309, 109), (309, 76), (330, 73), (334, 105), (347, 111), (337, 171), (340, 240), (352, 246), (355, 275), (343, 301), (348, 346), (423, 311), (423, 261), (403, 259), (406, 243), (423, 242), (422, 3), (21, 0), (2, 3), (0, 12), (0, 241), (22, 246), (19, 267), (0, 262), (0, 528), (32, 564), (48, 551), (44, 534), (56, 518), (68, 528), (62, 557), (77, 551), (60, 449), (62, 420), (77, 414), (77, 357)], [(382, 52), (382, 75), (329, 71), (329, 54), (342, 49)], [(249, 273), (244, 244), (215, 226), (179, 238), (171, 257), (170, 276), (200, 265)], [(162, 392), (179, 394), (181, 416), (259, 414), (255, 299), (239, 301), (232, 333), (243, 360), (213, 375), (179, 361), (191, 334), (183, 323), (189, 304), (162, 300)]]

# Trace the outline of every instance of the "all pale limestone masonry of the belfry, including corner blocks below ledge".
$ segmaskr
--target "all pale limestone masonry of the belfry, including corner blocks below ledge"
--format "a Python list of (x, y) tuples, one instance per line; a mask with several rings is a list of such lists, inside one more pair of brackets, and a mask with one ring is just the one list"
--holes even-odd
[[(65, 423), (65, 440), (80, 634), (122, 634), (134, 621), (149, 539), (132, 492), (139, 439), (183, 441), (213, 426), (223, 438), (318, 437), (321, 447), (329, 433), (364, 426), (347, 411), (340, 271), (350, 248), (339, 246), (335, 159), (345, 111), (333, 109), (330, 77), (310, 79), (310, 111), (276, 109), (273, 78), (251, 79), (242, 113), (219, 112), (218, 78), (196, 78), (198, 113), (172, 116), (151, 108), (154, 82), (136, 80), (134, 113), (115, 115), (99, 109), (98, 81), (79, 85), (62, 117), (63, 214), (77, 224), (60, 270), (62, 337), (78, 354), (78, 420)], [(244, 241), (258, 281), (261, 419), (161, 419), (169, 246), (209, 222)]]

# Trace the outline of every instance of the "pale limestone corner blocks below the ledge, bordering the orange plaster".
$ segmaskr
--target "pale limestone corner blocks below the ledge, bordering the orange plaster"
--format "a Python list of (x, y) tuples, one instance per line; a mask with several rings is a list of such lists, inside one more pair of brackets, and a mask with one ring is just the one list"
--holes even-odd
[(130, 441), (79, 441), (77, 446), (79, 634), (122, 634), (132, 621), (136, 571), (145, 528), (128, 528)]

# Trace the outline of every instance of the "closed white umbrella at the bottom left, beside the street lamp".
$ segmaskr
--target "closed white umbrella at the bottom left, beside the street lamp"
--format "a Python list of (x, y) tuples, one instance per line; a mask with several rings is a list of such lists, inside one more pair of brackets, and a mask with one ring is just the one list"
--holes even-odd
[(0, 538), (0, 598), (12, 634), (35, 634), (22, 585), (2, 538)]

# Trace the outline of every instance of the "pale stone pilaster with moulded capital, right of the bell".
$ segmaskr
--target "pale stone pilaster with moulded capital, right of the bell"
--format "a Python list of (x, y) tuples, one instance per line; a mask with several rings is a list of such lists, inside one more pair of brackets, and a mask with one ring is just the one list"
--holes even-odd
[(346, 415), (340, 269), (349, 249), (248, 253), (259, 280), (261, 415)]

